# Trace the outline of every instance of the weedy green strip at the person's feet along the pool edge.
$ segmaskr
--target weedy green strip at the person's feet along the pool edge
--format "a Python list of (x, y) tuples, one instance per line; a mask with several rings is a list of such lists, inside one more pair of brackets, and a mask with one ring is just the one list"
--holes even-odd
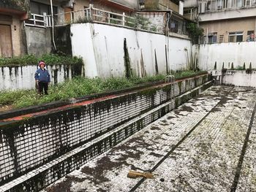
[[(176, 72), (173, 74), (176, 79), (190, 77), (205, 72)], [(51, 101), (67, 100), (86, 96), (91, 93), (102, 93), (105, 91), (114, 91), (124, 88), (131, 88), (146, 82), (159, 82), (165, 80), (165, 75), (157, 75), (153, 77), (115, 77), (108, 79), (86, 77), (75, 77), (67, 80), (65, 83), (50, 86), (48, 96), (39, 96), (35, 90), (20, 91), (0, 91), (0, 106), (13, 105), (14, 108), (28, 107), (31, 105), (45, 104)]]

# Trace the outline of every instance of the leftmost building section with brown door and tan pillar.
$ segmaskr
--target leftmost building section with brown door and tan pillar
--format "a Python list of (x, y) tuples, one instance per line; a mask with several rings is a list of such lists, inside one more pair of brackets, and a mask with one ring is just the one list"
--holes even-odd
[(26, 52), (22, 28), (28, 9), (28, 1), (0, 1), (0, 56), (10, 58)]

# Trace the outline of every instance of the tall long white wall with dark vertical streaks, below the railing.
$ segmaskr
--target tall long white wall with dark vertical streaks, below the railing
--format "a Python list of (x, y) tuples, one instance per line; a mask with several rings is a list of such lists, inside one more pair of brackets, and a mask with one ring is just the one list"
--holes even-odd
[(159, 73), (166, 74), (165, 45), (169, 69), (186, 68), (191, 60), (192, 45), (188, 39), (97, 23), (72, 24), (71, 33), (72, 54), (83, 58), (87, 77), (124, 76), (124, 38), (132, 69), (138, 75), (141, 74), (142, 58), (146, 74), (156, 73), (154, 50)]

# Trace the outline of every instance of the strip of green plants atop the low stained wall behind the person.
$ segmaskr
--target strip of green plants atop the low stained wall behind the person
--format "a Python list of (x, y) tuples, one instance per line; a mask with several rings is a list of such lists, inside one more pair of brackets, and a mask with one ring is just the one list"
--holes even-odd
[(23, 55), (21, 57), (13, 58), (1, 58), (0, 66), (26, 66), (26, 65), (37, 65), (38, 61), (43, 60), (48, 65), (53, 64), (83, 64), (82, 58), (56, 55), (56, 54), (45, 54), (41, 57), (36, 55)]

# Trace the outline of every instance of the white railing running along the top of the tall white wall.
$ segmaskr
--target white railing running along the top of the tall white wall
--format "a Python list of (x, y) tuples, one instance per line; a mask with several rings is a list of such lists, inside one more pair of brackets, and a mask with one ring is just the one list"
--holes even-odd
[[(55, 14), (53, 16), (54, 26), (66, 26), (72, 23), (107, 23), (113, 26), (122, 26), (125, 28), (136, 28), (143, 31), (152, 31), (159, 34), (165, 33), (165, 23), (162, 25), (151, 23), (150, 19), (143, 18), (140, 14), (133, 17), (127, 16), (124, 13), (118, 14), (108, 12), (102, 9), (93, 7)], [(25, 21), (25, 26), (36, 27), (52, 27), (52, 15), (36, 15), (31, 14), (31, 18)]]

